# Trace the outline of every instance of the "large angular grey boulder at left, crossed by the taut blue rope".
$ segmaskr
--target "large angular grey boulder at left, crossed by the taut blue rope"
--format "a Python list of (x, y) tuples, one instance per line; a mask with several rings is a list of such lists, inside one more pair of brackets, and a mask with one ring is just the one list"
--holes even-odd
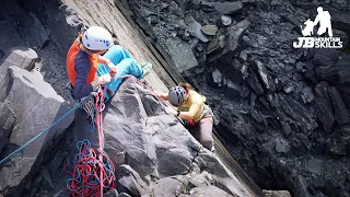
[[(9, 142), (1, 152), (2, 159), (45, 128), (51, 126), (70, 109), (65, 100), (57, 95), (54, 89), (43, 81), (40, 73), (36, 71), (28, 72), (18, 67), (10, 67), (0, 92), (0, 95), (2, 95), (0, 112), (7, 112), (11, 108), (12, 115), (10, 117), (12, 118), (9, 121), (15, 118), (15, 121), (12, 121), (12, 126), (10, 126), (12, 129)], [(43, 107), (45, 107), (45, 111), (43, 111)], [(8, 114), (9, 111), (1, 115)], [(68, 128), (73, 117), (72, 113), (69, 114), (65, 120), (52, 126), (36, 141), (30, 143), (3, 164), (0, 171), (0, 190), (2, 194), (13, 196), (21, 194), (23, 185), (38, 171), (45, 150), (51, 146), (55, 138)], [(7, 118), (9, 117), (0, 117), (0, 119)], [(0, 126), (0, 128), (2, 127), (4, 125)], [(9, 128), (9, 126), (5, 126), (5, 128)]]

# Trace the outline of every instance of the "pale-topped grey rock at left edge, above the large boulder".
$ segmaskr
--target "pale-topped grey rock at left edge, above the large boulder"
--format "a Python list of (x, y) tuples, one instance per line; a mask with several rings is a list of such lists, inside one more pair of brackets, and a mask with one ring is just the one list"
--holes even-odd
[(36, 61), (38, 56), (32, 48), (15, 47), (8, 50), (0, 67), (1, 70), (5, 70), (10, 66), (18, 66), (31, 71)]

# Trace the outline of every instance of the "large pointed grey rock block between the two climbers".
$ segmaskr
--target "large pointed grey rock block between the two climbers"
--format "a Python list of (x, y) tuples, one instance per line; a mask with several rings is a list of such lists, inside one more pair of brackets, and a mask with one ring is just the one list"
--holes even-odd
[[(184, 174), (190, 169), (196, 151), (188, 146), (199, 142), (163, 105), (133, 77), (119, 86), (103, 120), (105, 151), (116, 166), (128, 164), (142, 178)], [(97, 135), (90, 131), (85, 113), (78, 113), (74, 139), (89, 139), (96, 147)]]

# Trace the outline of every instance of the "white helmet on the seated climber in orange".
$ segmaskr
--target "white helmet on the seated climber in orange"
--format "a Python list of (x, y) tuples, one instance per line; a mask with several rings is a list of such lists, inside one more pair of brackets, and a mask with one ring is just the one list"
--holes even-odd
[(84, 32), (83, 45), (90, 50), (106, 50), (114, 45), (110, 33), (101, 26), (92, 26)]

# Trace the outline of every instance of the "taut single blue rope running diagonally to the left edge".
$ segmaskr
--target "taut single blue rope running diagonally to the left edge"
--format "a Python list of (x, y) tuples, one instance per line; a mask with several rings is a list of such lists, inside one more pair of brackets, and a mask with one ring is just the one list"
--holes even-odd
[(20, 147), (18, 150), (15, 150), (14, 152), (12, 152), (11, 154), (9, 154), (8, 157), (5, 157), (4, 159), (2, 159), (0, 161), (0, 165), (3, 164), (4, 162), (7, 162), (10, 158), (12, 158), (14, 154), (19, 153), (21, 150), (23, 150), (25, 147), (27, 147), (30, 143), (32, 143), (33, 141), (35, 141), (36, 139), (38, 139), (43, 134), (47, 132), (50, 128), (52, 128), (56, 124), (58, 124), (60, 120), (62, 120), (65, 117), (67, 117), (69, 114), (71, 114), (72, 112), (74, 112), (77, 108), (79, 108), (90, 96), (92, 96), (92, 94), (90, 94), (89, 96), (84, 97), (80, 103), (78, 103), (73, 108), (71, 108), (68, 113), (66, 113), (62, 117), (60, 117), (57, 121), (55, 121), (51, 126), (49, 126), (48, 128), (46, 128), (45, 130), (43, 130), (42, 132), (39, 132), (37, 136), (35, 136), (34, 138), (32, 138), (30, 141), (27, 141), (26, 143), (24, 143), (22, 147)]

